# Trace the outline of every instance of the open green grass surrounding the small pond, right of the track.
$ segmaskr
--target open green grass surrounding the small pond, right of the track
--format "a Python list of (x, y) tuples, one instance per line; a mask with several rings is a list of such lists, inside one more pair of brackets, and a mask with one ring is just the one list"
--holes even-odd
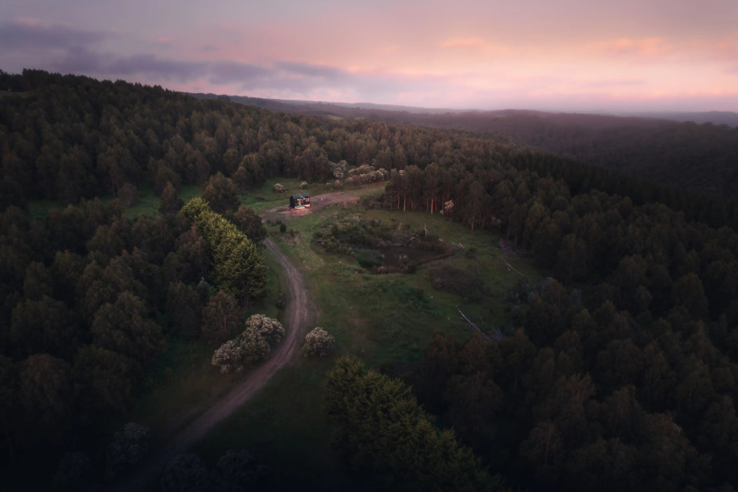
[[(350, 256), (325, 253), (312, 235), (325, 223), (346, 216), (377, 219), (397, 230), (421, 232), (454, 243), (456, 253), (444, 260), (423, 264), (416, 273), (374, 275)], [(466, 338), (470, 329), (459, 321), (456, 307), (483, 329), (508, 327), (504, 293), (517, 282), (500, 259), (499, 237), (466, 230), (440, 215), (421, 212), (363, 211), (359, 206), (335, 205), (320, 213), (294, 217), (289, 228), (298, 233), (272, 235), (294, 262), (302, 265), (311, 294), (321, 310), (320, 324), (336, 336), (340, 352), (365, 359), (370, 365), (384, 361), (418, 361), (435, 330), (455, 332)], [(509, 260), (508, 260), (509, 261)], [(525, 262), (511, 260), (528, 276), (537, 274)], [(484, 294), (473, 302), (435, 290), (430, 271), (448, 265), (473, 273), (483, 281)]]

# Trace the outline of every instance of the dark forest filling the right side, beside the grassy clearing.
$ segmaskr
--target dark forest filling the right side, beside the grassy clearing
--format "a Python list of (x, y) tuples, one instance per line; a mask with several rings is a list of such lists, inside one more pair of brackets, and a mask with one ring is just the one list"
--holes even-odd
[(522, 487), (731, 490), (738, 234), (637, 188), (641, 203), (587, 188), (577, 168), (531, 153), (393, 171), (385, 207), (450, 203), (444, 214), (499, 231), (555, 279), (508, 293), (508, 338), (439, 334), (406, 377)]

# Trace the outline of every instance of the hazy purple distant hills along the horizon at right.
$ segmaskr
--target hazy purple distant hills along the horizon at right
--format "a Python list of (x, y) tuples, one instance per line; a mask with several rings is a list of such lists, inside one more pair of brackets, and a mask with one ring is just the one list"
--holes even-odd
[(738, 113), (624, 116), (228, 98), (277, 112), (492, 132), (562, 157), (616, 169), (658, 184), (724, 197), (738, 196)]

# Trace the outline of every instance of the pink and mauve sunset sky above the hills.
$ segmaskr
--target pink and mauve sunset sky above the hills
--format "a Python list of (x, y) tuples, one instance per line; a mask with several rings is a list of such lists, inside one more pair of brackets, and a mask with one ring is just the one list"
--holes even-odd
[(0, 69), (425, 108), (738, 111), (738, 0), (1, 0)]

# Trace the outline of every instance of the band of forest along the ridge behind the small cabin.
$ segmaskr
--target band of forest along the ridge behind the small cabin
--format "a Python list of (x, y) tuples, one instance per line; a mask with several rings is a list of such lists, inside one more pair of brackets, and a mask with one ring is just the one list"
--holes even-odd
[[(726, 198), (687, 192), (592, 165), (542, 159), (539, 152), (494, 134), (370, 120), (320, 120), (224, 100), (196, 100), (158, 86), (98, 82), (38, 70), (13, 77), (32, 90), (0, 98), (2, 208), (10, 204), (24, 208), (27, 199), (76, 203), (81, 198), (130, 193), (143, 185), (161, 195), (168, 183), (175, 190), (182, 184), (205, 185), (218, 172), (240, 191), (275, 176), (325, 182), (333, 179), (335, 163), (342, 160), (351, 167), (373, 165), (385, 171), (412, 165), (422, 170), (435, 164), (466, 175), (482, 163), (514, 159), (517, 167), (534, 165), (539, 174), (562, 177), (582, 191), (597, 188), (629, 195), (638, 205), (662, 202), (715, 227), (738, 225), (738, 205), (731, 194)], [(725, 141), (711, 148), (729, 156), (731, 145)], [(686, 154), (700, 153), (692, 149)], [(725, 159), (729, 162), (731, 157)], [(715, 174), (703, 166), (690, 168)], [(735, 182), (734, 177), (721, 181)]]

